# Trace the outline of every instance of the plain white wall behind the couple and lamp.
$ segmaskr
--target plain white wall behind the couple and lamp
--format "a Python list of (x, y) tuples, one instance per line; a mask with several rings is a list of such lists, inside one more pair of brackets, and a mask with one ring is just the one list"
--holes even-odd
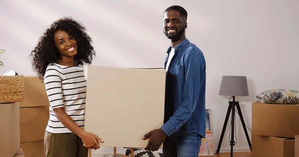
[[(299, 90), (298, 0), (1, 0), (0, 48), (7, 52), (0, 56), (0, 74), (12, 69), (35, 75), (28, 55), (46, 27), (62, 16), (72, 16), (88, 29), (97, 52), (93, 65), (162, 67), (169, 46), (162, 14), (173, 4), (188, 11), (187, 38), (206, 58), (206, 108), (212, 110), (215, 149), (229, 98), (218, 95), (222, 75), (247, 76), (250, 96), (236, 99), (249, 128), (256, 94), (275, 88)], [(222, 151), (230, 148), (228, 132)], [(236, 136), (234, 150), (248, 151), (238, 116)]]

